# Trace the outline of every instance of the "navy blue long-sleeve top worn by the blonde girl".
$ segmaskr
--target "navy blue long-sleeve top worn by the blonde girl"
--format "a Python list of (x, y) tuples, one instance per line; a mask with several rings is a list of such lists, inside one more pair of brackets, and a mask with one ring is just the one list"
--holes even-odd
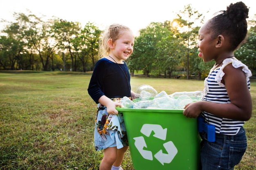
[(126, 63), (114, 63), (102, 58), (95, 64), (88, 94), (98, 104), (101, 96), (108, 98), (130, 97), (130, 73)]

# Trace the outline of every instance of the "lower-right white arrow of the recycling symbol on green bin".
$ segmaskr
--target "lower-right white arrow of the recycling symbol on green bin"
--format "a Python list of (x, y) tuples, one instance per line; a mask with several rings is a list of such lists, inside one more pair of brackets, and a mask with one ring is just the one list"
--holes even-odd
[(162, 149), (159, 150), (154, 156), (155, 158), (164, 165), (164, 163), (171, 163), (175, 155), (178, 153), (177, 148), (173, 144), (173, 142), (169, 141), (163, 144), (167, 153), (163, 153)]

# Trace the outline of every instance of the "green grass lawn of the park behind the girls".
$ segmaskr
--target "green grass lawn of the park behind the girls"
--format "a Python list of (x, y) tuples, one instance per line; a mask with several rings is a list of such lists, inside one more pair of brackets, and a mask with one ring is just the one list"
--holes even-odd
[[(94, 150), (97, 105), (87, 92), (90, 73), (0, 72), (0, 169), (97, 170), (103, 152)], [(203, 81), (131, 78), (157, 92), (196, 91)], [(245, 123), (247, 151), (236, 170), (256, 169), (256, 81), (251, 82), (253, 115)], [(122, 167), (133, 170), (130, 151)]]

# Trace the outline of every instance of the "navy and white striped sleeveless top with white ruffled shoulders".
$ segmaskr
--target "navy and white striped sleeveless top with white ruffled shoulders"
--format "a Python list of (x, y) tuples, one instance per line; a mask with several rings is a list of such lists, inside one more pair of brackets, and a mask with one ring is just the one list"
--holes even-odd
[[(225, 74), (223, 69), (228, 64), (232, 64), (234, 68), (243, 68), (243, 72), (245, 72), (247, 78), (247, 86), (250, 90), (249, 77), (252, 76), (252, 72), (249, 70), (247, 65), (236, 58), (227, 58), (223, 60), (222, 63), (223, 65), (211, 70), (207, 78), (205, 78), (202, 100), (215, 103), (230, 103), (227, 89), (225, 88), (225, 85), (221, 83), (222, 77)], [(222, 118), (205, 111), (201, 113), (201, 116), (204, 117), (204, 122), (215, 126), (216, 133), (223, 135), (236, 135), (245, 123), (245, 121)]]

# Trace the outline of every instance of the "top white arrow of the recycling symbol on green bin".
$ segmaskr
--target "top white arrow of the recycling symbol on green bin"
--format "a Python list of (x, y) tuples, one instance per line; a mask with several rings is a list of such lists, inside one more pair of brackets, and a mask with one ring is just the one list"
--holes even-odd
[(153, 135), (154, 137), (162, 140), (166, 139), (167, 128), (163, 129), (162, 126), (159, 124), (144, 124), (140, 130), (140, 132), (147, 137), (150, 136), (152, 131), (155, 132), (155, 134)]

